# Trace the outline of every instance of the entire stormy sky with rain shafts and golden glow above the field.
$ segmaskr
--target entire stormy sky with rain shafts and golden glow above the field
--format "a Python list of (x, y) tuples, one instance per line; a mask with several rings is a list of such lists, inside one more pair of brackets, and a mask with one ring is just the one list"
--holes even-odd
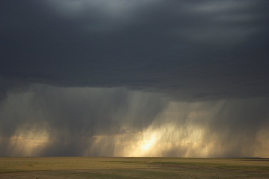
[(0, 155), (269, 157), (268, 7), (0, 1)]

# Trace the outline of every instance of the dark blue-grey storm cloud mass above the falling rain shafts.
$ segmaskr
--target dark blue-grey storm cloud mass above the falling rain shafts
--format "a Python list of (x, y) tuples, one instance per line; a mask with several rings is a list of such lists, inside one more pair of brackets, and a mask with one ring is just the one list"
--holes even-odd
[(184, 100), (268, 96), (268, 5), (1, 1), (0, 75), (17, 86), (128, 86)]

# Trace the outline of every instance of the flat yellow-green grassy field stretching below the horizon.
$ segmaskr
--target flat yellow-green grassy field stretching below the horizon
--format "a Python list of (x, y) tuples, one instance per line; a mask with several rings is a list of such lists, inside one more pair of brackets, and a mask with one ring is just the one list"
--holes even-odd
[(269, 178), (268, 159), (0, 158), (0, 178)]

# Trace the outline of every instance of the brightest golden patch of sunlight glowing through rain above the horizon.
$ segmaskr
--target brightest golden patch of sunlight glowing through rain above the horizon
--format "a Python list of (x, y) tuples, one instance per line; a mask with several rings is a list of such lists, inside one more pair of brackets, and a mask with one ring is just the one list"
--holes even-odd
[[(204, 144), (201, 141), (203, 137), (203, 130), (197, 129), (189, 131), (189, 135), (183, 128), (178, 128), (174, 124), (168, 124), (159, 128), (150, 126), (141, 134), (132, 134), (134, 141), (131, 143), (125, 142), (130, 138), (130, 134), (125, 134), (121, 137), (116, 137), (115, 140), (121, 141), (117, 143), (123, 147), (123, 156), (126, 157), (157, 157), (165, 156), (167, 152), (174, 152), (173, 155), (182, 156), (182, 150), (189, 150), (185, 152), (184, 157), (193, 156), (194, 152), (197, 156), (206, 157), (209, 154), (210, 144)], [(120, 148), (117, 147), (116, 148)], [(177, 150), (178, 149), (178, 150)]]

